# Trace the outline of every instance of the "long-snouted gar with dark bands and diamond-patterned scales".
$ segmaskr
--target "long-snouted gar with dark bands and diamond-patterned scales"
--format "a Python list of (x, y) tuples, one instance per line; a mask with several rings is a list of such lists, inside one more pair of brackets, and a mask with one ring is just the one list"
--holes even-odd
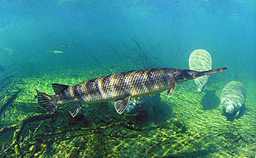
[(132, 97), (144, 97), (164, 90), (168, 90), (167, 96), (170, 97), (177, 84), (223, 70), (227, 70), (227, 67), (203, 72), (178, 68), (149, 68), (105, 75), (75, 86), (53, 83), (55, 95), (47, 95), (38, 90), (36, 92), (38, 104), (50, 113), (54, 113), (58, 106), (66, 104), (74, 117), (81, 105), (115, 101), (116, 112), (122, 114)]

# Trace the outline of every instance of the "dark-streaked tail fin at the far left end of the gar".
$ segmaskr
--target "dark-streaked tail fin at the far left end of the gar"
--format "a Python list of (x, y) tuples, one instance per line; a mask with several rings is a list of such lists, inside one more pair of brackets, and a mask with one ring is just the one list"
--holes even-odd
[(38, 90), (36, 90), (36, 93), (38, 104), (44, 107), (49, 113), (54, 113), (57, 109), (56, 104), (54, 104), (54, 98)]

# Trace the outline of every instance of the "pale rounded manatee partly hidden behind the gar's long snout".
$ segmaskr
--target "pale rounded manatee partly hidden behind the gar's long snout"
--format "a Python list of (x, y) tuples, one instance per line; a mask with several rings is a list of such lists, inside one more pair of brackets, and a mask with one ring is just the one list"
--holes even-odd
[[(212, 70), (211, 54), (204, 49), (196, 49), (191, 52), (189, 56), (189, 69), (195, 71)], [(198, 92), (202, 92), (208, 77), (209, 75), (205, 75), (194, 79), (196, 86), (198, 86)]]

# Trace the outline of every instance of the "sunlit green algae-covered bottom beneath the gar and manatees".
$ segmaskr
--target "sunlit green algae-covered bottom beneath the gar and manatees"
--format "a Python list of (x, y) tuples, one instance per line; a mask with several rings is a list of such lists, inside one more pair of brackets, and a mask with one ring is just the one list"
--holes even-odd
[[(1, 127), (46, 113), (44, 109), (38, 111), (41, 107), (36, 104), (35, 89), (53, 94), (51, 83), (74, 85), (106, 75), (94, 72), (97, 70), (68, 70), (65, 74), (22, 79), (24, 84), (19, 86), (22, 91), (15, 106), (6, 111), (8, 117), (2, 119)], [(202, 93), (197, 93), (193, 81), (179, 84), (170, 99), (166, 92), (161, 93), (161, 102), (166, 107), (154, 108), (162, 107), (171, 112), (157, 111), (154, 120), (147, 125), (138, 123), (137, 115), (116, 114), (111, 102), (83, 106), (75, 118), (61, 107), (55, 122), (42, 121), (40, 129), (24, 141), (40, 122), (26, 126), (20, 146), (24, 157), (253, 157), (256, 146), (253, 81), (245, 82), (248, 95), (246, 111), (241, 118), (230, 122), (222, 115), (219, 105), (205, 108), (208, 104), (220, 104), (219, 100), (209, 100), (212, 95), (220, 98), (226, 83), (210, 77)], [(210, 92), (211, 95), (207, 94)], [(173, 127), (175, 118), (184, 122), (186, 130)], [(10, 145), (12, 134), (13, 131), (9, 131), (0, 136), (2, 151)], [(8, 155), (15, 156), (14, 151), (9, 150), (3, 157)]]

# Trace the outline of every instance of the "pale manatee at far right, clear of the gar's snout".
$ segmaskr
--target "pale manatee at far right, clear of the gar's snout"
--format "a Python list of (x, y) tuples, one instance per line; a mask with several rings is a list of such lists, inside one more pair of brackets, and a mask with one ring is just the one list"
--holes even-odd
[(246, 97), (243, 83), (231, 81), (226, 84), (221, 93), (220, 105), (224, 114), (234, 115), (238, 118)]

